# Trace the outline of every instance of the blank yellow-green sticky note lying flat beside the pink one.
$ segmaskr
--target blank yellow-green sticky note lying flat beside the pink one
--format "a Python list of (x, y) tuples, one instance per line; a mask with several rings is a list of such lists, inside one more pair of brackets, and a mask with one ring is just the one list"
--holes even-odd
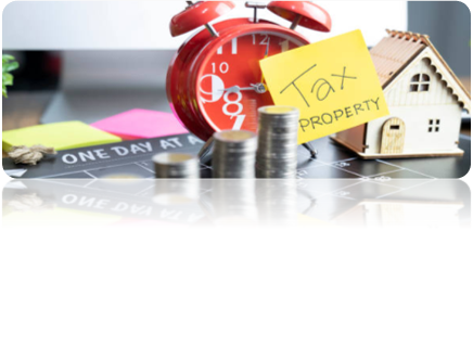
[(2, 150), (11, 146), (42, 144), (56, 151), (120, 142), (119, 137), (98, 130), (81, 121), (39, 125), (2, 132)]

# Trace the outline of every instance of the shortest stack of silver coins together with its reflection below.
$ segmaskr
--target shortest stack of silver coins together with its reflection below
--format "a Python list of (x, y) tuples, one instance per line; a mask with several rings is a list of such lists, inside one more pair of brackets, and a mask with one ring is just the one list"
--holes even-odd
[(183, 153), (162, 153), (153, 157), (156, 174), (155, 196), (159, 205), (190, 204), (199, 201), (200, 163)]

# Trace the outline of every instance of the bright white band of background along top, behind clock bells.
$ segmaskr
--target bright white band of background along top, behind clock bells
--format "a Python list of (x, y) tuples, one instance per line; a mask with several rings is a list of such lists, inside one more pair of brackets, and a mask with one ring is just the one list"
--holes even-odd
[[(245, 1), (228, 17), (252, 17)], [(260, 1), (269, 2), (269, 1)], [(407, 1), (316, 1), (332, 15), (330, 35), (301, 33), (315, 42), (360, 28), (369, 46), (385, 29), (407, 29)], [(186, 1), (26, 1), (7, 4), (2, 13), (3, 50), (155, 50), (177, 49), (187, 36), (172, 39), (169, 22), (187, 7)], [(260, 17), (281, 25), (290, 23), (267, 10)]]

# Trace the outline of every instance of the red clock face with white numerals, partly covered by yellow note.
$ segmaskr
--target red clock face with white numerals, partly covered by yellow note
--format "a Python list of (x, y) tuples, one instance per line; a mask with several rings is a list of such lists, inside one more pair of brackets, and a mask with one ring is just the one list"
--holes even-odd
[(199, 107), (206, 123), (215, 131), (257, 132), (258, 108), (273, 104), (259, 61), (305, 44), (283, 34), (255, 33), (216, 49), (197, 80)]

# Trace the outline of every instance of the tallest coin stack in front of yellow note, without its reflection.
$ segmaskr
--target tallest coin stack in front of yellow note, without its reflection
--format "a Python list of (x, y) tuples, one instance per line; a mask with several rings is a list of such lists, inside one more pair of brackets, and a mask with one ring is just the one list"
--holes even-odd
[(289, 106), (259, 108), (258, 178), (284, 178), (297, 170), (299, 111)]

